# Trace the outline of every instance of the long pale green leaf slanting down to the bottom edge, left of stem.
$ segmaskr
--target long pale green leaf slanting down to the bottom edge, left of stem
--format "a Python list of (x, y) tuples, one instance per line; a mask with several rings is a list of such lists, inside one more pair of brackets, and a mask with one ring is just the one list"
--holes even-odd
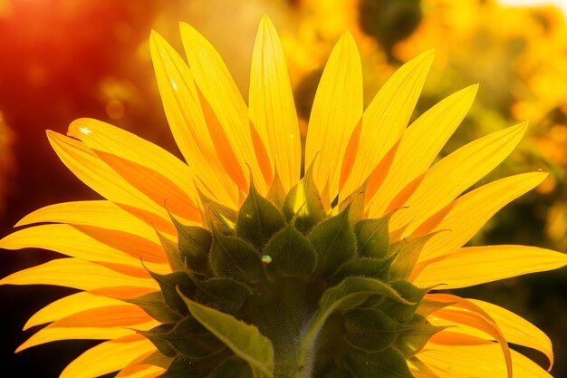
[(191, 315), (221, 340), (238, 357), (250, 364), (256, 378), (274, 376), (274, 348), (254, 325), (246, 325), (232, 315), (193, 302), (179, 291)]

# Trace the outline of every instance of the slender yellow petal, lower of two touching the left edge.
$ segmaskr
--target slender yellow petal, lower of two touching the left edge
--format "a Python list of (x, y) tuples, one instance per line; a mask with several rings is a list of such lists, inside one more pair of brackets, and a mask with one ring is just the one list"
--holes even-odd
[(139, 286), (159, 290), (153, 279), (126, 276), (78, 258), (57, 258), (0, 280), (0, 285), (54, 285), (81, 290), (113, 286)]

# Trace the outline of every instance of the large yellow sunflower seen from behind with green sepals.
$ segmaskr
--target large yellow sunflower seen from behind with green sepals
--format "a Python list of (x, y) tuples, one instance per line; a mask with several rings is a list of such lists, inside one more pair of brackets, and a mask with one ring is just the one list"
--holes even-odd
[[(351, 34), (332, 50), (304, 150), (283, 49), (264, 16), (248, 105), (207, 40), (181, 24), (187, 63), (157, 33), (150, 52), (186, 162), (91, 119), (48, 131), (62, 162), (104, 200), (36, 210), (0, 247), (66, 257), (3, 285), (79, 291), (33, 315), (18, 351), (104, 340), (62, 377), (549, 376), (542, 331), (497, 305), (434, 293), (567, 265), (527, 246), (463, 247), (543, 172), (468, 190), (526, 124), (431, 164), (476, 85), (408, 126), (433, 53), (394, 73), (363, 111)], [(466, 194), (462, 194), (466, 191)], [(511, 263), (513, 261), (514, 263)], [(161, 375), (160, 375), (161, 374)]]

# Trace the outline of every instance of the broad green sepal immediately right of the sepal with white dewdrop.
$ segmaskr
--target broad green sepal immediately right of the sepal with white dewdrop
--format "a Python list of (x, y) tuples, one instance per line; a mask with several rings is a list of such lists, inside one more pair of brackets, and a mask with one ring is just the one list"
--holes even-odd
[(309, 234), (317, 257), (316, 274), (332, 275), (341, 265), (356, 255), (356, 237), (349, 223), (349, 210), (323, 220)]

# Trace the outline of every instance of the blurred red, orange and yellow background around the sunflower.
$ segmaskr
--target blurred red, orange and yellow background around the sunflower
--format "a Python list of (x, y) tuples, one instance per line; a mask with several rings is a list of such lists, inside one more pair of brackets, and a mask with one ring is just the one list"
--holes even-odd
[[(401, 63), (430, 48), (436, 49), (436, 60), (418, 112), (451, 92), (480, 83), (476, 102), (447, 144), (446, 154), (490, 131), (529, 120), (528, 136), (519, 150), (481, 184), (538, 169), (550, 171), (550, 178), (539, 193), (499, 212), (473, 242), (514, 242), (565, 251), (565, 15), (551, 5), (519, 7), (491, 0), (0, 0), (0, 237), (35, 208), (96, 199), (55, 158), (45, 129), (64, 133), (72, 120), (92, 117), (178, 154), (149, 61), (150, 29), (181, 50), (178, 21), (194, 24), (226, 58), (246, 98), (255, 29), (263, 14), (270, 15), (282, 36), (304, 120), (322, 66), (345, 29), (359, 45), (367, 101)], [(2, 276), (53, 257), (49, 254), (30, 251), (14, 257), (5, 251), (0, 254)], [(567, 322), (552, 314), (567, 313), (565, 293), (563, 268), (458, 294), (498, 303), (541, 325), (561, 357), (567, 355)], [(49, 350), (37, 347), (11, 357), (29, 334), (9, 326), (24, 325), (35, 310), (64, 294), (70, 293), (0, 287), (5, 305), (18, 303), (18, 313), (3, 315), (5, 342), (0, 355), (6, 359), (7, 376), (37, 376), (34, 359), (51, 360), (52, 370), (41, 363), (41, 376), (56, 376), (78, 355), (73, 343), (82, 342)], [(543, 356), (533, 358), (544, 363)], [(557, 359), (553, 375), (567, 376), (562, 358)]]

